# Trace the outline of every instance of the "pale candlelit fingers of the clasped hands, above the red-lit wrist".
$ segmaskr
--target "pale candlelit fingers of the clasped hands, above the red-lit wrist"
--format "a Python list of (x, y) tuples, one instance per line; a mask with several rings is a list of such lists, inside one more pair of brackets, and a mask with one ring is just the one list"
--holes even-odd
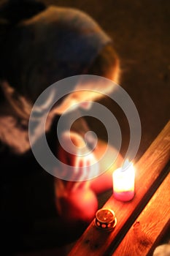
[(58, 149), (58, 159), (61, 161), (60, 178), (65, 181), (66, 189), (87, 187), (88, 180), (98, 176), (96, 157), (76, 132), (63, 132), (61, 142)]

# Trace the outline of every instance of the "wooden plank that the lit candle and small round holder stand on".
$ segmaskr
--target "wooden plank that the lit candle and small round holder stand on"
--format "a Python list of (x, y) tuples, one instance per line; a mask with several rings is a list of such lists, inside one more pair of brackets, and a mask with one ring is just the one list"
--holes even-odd
[(115, 230), (112, 233), (104, 233), (91, 222), (72, 248), (69, 256), (110, 255), (111, 249), (117, 248), (134, 219), (139, 216), (139, 213), (167, 175), (168, 168), (164, 167), (169, 159), (170, 121), (134, 166), (136, 168), (134, 199), (131, 202), (123, 203), (111, 196), (103, 206), (115, 211), (117, 217)]

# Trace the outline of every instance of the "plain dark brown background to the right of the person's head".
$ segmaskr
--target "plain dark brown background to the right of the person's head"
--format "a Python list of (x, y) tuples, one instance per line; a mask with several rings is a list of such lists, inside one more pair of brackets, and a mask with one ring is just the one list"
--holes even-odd
[[(133, 99), (142, 124), (137, 159), (169, 121), (170, 110), (170, 1), (169, 0), (45, 0), (46, 4), (75, 7), (87, 12), (114, 40), (120, 57), (120, 86)], [(128, 145), (128, 123), (112, 102), (123, 136), (123, 154)], [(93, 123), (93, 129), (98, 125)], [(113, 132), (114, 133), (114, 132)], [(99, 135), (104, 138), (101, 127)]]

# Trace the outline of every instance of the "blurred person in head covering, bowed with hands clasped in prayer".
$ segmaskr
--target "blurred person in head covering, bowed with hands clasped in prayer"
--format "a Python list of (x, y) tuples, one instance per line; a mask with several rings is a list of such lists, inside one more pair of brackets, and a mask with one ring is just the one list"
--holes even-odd
[[(117, 82), (119, 58), (112, 39), (80, 10), (46, 7), (40, 1), (13, 0), (1, 4), (0, 18), (2, 244), (6, 252), (65, 244), (80, 236), (93, 219), (98, 208), (97, 195), (112, 187), (112, 173), (76, 182), (63, 181), (43, 170), (28, 139), (31, 109), (42, 91), (63, 78), (88, 74)], [(91, 89), (95, 89), (93, 86)], [(112, 91), (112, 86), (104, 86), (102, 91)], [(100, 97), (77, 92), (63, 97), (50, 111), (45, 131), (47, 142), (62, 162), (76, 165), (77, 152), (68, 154), (58, 143), (55, 135), (58, 118), (75, 104), (75, 99), (80, 108), (90, 108), (85, 100), (93, 102)], [(43, 115), (42, 107), (39, 118)], [(66, 122), (72, 115), (74, 111), (67, 113)], [(85, 145), (83, 136), (88, 130), (85, 119), (80, 118), (72, 131), (68, 131), (66, 124), (62, 140), (67, 143), (71, 138), (79, 148)], [(35, 129), (34, 135), (37, 143), (41, 134), (36, 134)], [(98, 159), (106, 146), (99, 140), (92, 158)], [(110, 146), (110, 154), (115, 151)], [(115, 167), (121, 161), (119, 156)], [(78, 167), (83, 165), (90, 162), (82, 159)]]

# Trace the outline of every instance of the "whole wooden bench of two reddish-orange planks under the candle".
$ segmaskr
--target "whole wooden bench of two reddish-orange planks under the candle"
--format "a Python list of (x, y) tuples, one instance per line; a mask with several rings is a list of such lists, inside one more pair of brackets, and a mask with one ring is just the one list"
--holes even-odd
[(112, 195), (104, 204), (115, 211), (115, 230), (104, 233), (91, 222), (69, 256), (152, 255), (170, 226), (169, 159), (170, 121), (134, 166), (134, 199), (123, 203)]

